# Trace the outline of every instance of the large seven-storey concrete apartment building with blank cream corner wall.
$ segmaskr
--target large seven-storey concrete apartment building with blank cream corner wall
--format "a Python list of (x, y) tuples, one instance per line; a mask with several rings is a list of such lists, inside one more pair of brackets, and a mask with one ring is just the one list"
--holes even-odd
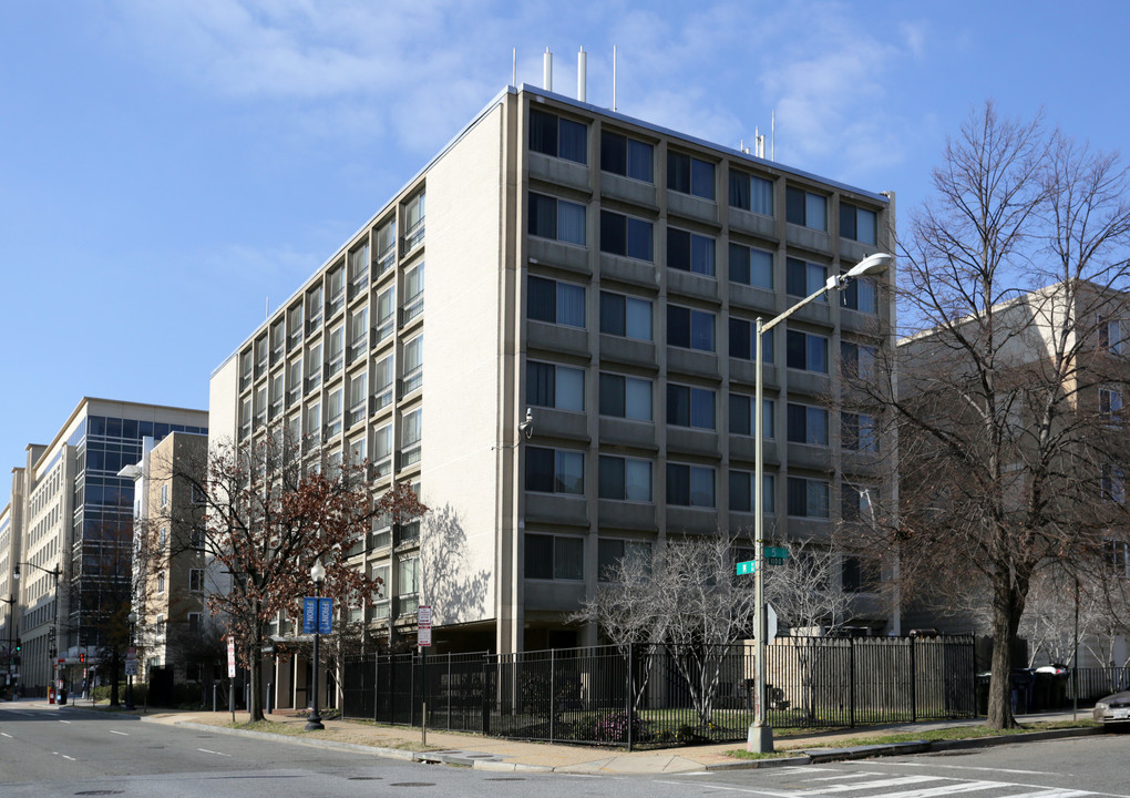
[[(441, 651), (596, 643), (565, 616), (603, 567), (751, 530), (756, 319), (893, 251), (893, 205), (508, 87), (215, 371), (212, 440), (287, 431), (310, 467), (417, 486), (428, 519), (354, 555), (389, 588), (354, 608), (377, 635), (410, 640), (428, 604)], [(893, 345), (888, 297), (862, 280), (767, 341), (777, 537), (826, 539), (861, 488), (893, 489), (868, 419), (829, 409), (841, 356)]]

